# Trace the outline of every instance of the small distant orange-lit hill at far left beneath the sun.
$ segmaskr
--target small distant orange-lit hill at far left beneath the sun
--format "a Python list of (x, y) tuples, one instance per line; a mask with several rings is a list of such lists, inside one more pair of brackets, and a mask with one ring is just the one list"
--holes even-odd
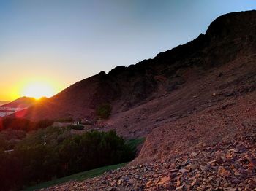
[(21, 97), (12, 101), (8, 104), (4, 104), (1, 107), (11, 107), (11, 108), (28, 108), (36, 104), (37, 100), (35, 98)]

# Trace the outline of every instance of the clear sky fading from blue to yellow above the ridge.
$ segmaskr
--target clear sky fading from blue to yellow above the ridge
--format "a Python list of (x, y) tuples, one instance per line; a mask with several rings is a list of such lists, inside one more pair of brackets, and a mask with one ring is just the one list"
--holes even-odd
[(195, 39), (220, 15), (251, 9), (255, 0), (0, 0), (0, 100), (39, 84), (58, 93)]

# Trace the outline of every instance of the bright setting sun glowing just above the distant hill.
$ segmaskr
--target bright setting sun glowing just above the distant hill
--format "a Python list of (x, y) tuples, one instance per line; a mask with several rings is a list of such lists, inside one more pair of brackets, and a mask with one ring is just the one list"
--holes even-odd
[(54, 88), (48, 82), (29, 82), (23, 87), (22, 95), (31, 98), (50, 98), (54, 95)]

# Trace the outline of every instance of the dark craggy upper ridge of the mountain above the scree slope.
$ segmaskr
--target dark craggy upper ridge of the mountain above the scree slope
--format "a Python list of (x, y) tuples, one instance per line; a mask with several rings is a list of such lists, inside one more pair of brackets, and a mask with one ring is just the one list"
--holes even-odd
[[(218, 67), (237, 59), (243, 59), (242, 62), (248, 65), (245, 72), (251, 77), (253, 73), (249, 68), (255, 67), (250, 63), (255, 55), (255, 14), (255, 11), (250, 11), (222, 15), (211, 23), (206, 34), (200, 34), (192, 42), (161, 52), (155, 58), (136, 65), (118, 66), (108, 74), (102, 71), (83, 79), (47, 101), (31, 107), (25, 117), (31, 120), (94, 117), (95, 109), (103, 103), (113, 106), (113, 114), (129, 111), (148, 101), (176, 93), (189, 83), (203, 79)], [(241, 79), (246, 78), (245, 75)], [(227, 74), (217, 79), (225, 77)], [(240, 82), (237, 80), (237, 83)], [(222, 91), (236, 89), (234, 83), (230, 82), (228, 86), (223, 80), (218, 86), (215, 88)], [(214, 88), (211, 88), (212, 91)]]

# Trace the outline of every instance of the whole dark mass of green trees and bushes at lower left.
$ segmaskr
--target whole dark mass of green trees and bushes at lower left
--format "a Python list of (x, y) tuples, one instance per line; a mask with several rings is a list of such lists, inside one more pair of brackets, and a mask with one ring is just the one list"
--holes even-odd
[(20, 190), (134, 157), (132, 148), (113, 130), (72, 135), (69, 128), (39, 129), (18, 142), (14, 151), (0, 152), (1, 189)]

